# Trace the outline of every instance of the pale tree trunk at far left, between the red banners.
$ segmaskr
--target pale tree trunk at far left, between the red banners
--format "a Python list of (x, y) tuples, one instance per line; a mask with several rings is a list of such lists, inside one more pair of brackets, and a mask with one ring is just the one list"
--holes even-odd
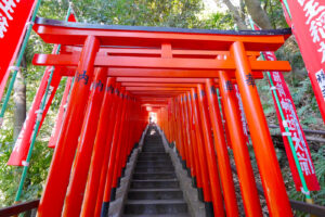
[[(22, 62), (22, 66), (26, 68), (26, 59)], [(26, 118), (26, 85), (23, 72), (17, 73), (14, 85), (14, 140), (17, 139)]]

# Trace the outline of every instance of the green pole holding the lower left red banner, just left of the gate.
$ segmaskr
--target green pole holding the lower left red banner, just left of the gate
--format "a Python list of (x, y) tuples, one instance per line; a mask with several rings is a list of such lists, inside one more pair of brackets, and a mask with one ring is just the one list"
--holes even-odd
[[(68, 17), (69, 17), (70, 13), (72, 13), (72, 4), (69, 4), (65, 21), (68, 21)], [(61, 50), (61, 44), (58, 44), (58, 47), (57, 47), (56, 54), (58, 54), (60, 50)], [(48, 98), (48, 93), (49, 93), (49, 88), (50, 88), (51, 80), (52, 80), (52, 77), (53, 77), (53, 72), (54, 72), (54, 67), (52, 67), (52, 71), (51, 71), (51, 74), (50, 74), (50, 77), (49, 77), (49, 80), (48, 80), (48, 85), (47, 85), (47, 89), (46, 89), (46, 92), (44, 92), (43, 100), (41, 102), (40, 111), (43, 111), (43, 108), (46, 106), (47, 98)], [(26, 176), (27, 176), (27, 170), (28, 170), (28, 167), (29, 167), (29, 162), (30, 162), (32, 149), (34, 149), (34, 145), (35, 145), (37, 132), (38, 132), (38, 129), (40, 127), (41, 117), (42, 117), (42, 112), (38, 114), (37, 122), (35, 124), (35, 129), (34, 129), (34, 132), (32, 132), (30, 146), (29, 146), (29, 150), (28, 150), (28, 155), (27, 155), (26, 161), (24, 162), (24, 169), (23, 169), (20, 187), (18, 187), (17, 193), (16, 193), (15, 203), (18, 203), (20, 200), (21, 200), (21, 196), (22, 196), (23, 187), (24, 187), (24, 182), (25, 182), (25, 179), (26, 179)]]

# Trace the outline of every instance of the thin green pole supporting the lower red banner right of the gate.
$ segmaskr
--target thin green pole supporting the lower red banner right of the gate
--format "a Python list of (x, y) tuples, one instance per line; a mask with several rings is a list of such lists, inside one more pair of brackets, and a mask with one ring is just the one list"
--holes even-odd
[[(250, 23), (251, 28), (255, 30), (253, 22), (252, 22), (252, 20), (250, 17), (249, 17), (249, 23)], [(263, 61), (265, 61), (265, 58), (264, 58), (263, 53), (261, 53), (261, 58), (262, 58)], [(283, 122), (285, 122), (286, 118), (284, 116), (284, 112), (283, 112), (283, 108), (281, 106), (281, 102), (278, 100), (278, 95), (277, 95), (277, 92), (276, 92), (276, 89), (274, 89), (275, 86), (273, 84), (273, 79), (271, 77), (270, 72), (266, 72), (266, 75), (268, 75), (268, 78), (269, 78), (269, 81), (270, 81), (270, 85), (271, 85), (271, 88), (272, 88), (272, 93), (273, 93), (273, 95), (275, 98), (275, 101), (276, 101), (276, 106), (277, 106), (277, 108), (280, 111), (281, 118), (282, 118)], [(310, 203), (310, 204), (313, 204), (313, 200), (312, 200), (312, 197), (310, 195), (310, 190), (308, 189), (306, 179), (304, 179), (303, 174), (302, 174), (301, 166), (299, 164), (299, 159), (298, 159), (298, 156), (297, 156), (297, 152), (295, 150), (295, 145), (294, 145), (294, 142), (292, 142), (292, 137), (290, 136), (289, 128), (288, 128), (288, 126), (284, 126), (284, 128), (285, 128), (286, 132), (288, 133), (287, 139), (288, 139), (288, 142), (289, 142), (289, 145), (290, 145), (290, 150), (291, 150), (291, 153), (292, 153), (292, 156), (294, 156), (294, 159), (295, 159), (295, 164), (296, 164), (296, 167), (297, 167), (297, 170), (298, 170), (298, 174), (299, 174), (299, 178), (300, 178), (300, 181), (301, 181), (301, 186), (302, 186), (301, 192), (306, 195), (306, 202)]]

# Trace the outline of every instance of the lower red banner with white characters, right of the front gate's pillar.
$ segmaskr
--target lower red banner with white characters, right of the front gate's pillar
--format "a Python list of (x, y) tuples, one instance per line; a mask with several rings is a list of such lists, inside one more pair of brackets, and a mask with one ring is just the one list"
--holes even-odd
[[(276, 56), (273, 52), (263, 52), (265, 60), (268, 61), (275, 61)], [(301, 128), (301, 125), (299, 123), (299, 118), (297, 115), (297, 111), (294, 104), (294, 100), (291, 98), (291, 94), (289, 92), (289, 88), (284, 79), (284, 76), (280, 72), (271, 72), (271, 78), (273, 80), (274, 86), (276, 87), (278, 100), (285, 116), (285, 123), (283, 123), (281, 118), (281, 114), (278, 111), (278, 107), (276, 108), (276, 115), (280, 123), (283, 123), (280, 125), (282, 133), (284, 133), (286, 130), (284, 126), (288, 126), (289, 131), (291, 133), (292, 142), (295, 145), (295, 150), (297, 152), (297, 156), (299, 159), (299, 164), (301, 166), (307, 186), (309, 190), (311, 191), (317, 191), (320, 190), (320, 183), (317, 181), (317, 177), (315, 175), (315, 168), (311, 158), (310, 150), (303, 133), (303, 130)], [(272, 94), (274, 103), (276, 103), (274, 95)], [(294, 181), (296, 183), (297, 191), (301, 191), (301, 181), (299, 179), (298, 170), (295, 165), (295, 159), (290, 151), (290, 145), (288, 142), (288, 139), (286, 136), (284, 137), (284, 144), (286, 148), (286, 153), (288, 156), (290, 169), (292, 173)]]

